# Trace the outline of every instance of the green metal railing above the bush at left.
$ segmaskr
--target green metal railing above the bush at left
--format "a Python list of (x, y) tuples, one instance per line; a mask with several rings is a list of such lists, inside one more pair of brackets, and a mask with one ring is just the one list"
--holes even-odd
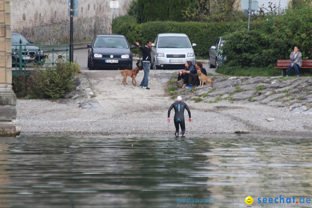
[(12, 44), (12, 75), (30, 75), (35, 68), (54, 69), (59, 61), (67, 62), (69, 45)]

